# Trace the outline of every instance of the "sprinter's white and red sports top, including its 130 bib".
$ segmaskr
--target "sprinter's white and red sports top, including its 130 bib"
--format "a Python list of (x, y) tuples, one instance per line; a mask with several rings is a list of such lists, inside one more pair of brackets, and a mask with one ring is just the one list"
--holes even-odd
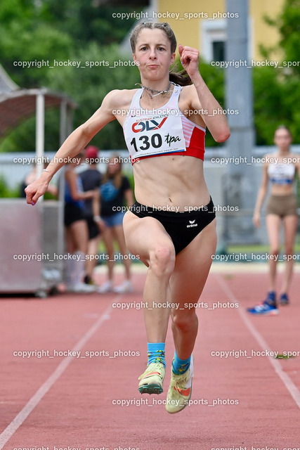
[(156, 110), (141, 108), (143, 88), (134, 94), (123, 125), (132, 164), (141, 158), (162, 155), (188, 155), (204, 160), (205, 129), (181, 113), (178, 108), (181, 89), (174, 84), (168, 103)]

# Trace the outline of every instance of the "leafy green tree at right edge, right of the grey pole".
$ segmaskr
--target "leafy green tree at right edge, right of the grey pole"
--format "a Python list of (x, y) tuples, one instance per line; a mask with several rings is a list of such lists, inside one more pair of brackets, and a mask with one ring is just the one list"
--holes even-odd
[[(278, 28), (282, 68), (254, 69), (254, 113), (257, 143), (272, 144), (278, 124), (291, 129), (294, 143), (300, 143), (300, 0), (285, 0), (276, 18), (265, 17), (266, 23)], [(261, 46), (261, 53), (273, 59), (278, 47)]]

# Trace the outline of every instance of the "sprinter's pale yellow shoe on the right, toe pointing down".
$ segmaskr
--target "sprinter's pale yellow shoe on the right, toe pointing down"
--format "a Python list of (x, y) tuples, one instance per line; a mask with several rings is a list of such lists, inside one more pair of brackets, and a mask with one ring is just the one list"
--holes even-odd
[(166, 409), (168, 413), (178, 413), (185, 406), (192, 395), (192, 380), (194, 375), (194, 359), (193, 355), (190, 359), (188, 370), (182, 375), (176, 375), (171, 371), (171, 381), (167, 394)]

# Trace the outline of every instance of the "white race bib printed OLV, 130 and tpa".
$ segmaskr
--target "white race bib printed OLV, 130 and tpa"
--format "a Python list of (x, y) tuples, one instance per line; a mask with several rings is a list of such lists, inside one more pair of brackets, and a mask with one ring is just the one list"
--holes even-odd
[(186, 150), (181, 117), (176, 109), (129, 111), (125, 141), (133, 159)]

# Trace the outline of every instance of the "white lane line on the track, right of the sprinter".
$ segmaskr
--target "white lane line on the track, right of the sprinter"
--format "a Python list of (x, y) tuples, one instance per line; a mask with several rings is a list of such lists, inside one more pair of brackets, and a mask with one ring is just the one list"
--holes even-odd
[[(225, 283), (223, 278), (221, 278), (221, 276), (216, 276), (216, 275), (214, 275), (214, 276), (216, 277), (216, 281), (219, 283), (219, 285), (223, 289), (224, 293), (226, 295), (228, 295), (228, 298), (230, 300), (238, 302), (237, 298), (235, 297), (235, 295), (233, 294), (233, 292), (229, 288), (229, 286)], [(261, 349), (270, 351), (271, 349), (268, 346), (266, 340), (264, 340), (261, 333), (259, 333), (259, 331), (256, 330), (256, 328), (250, 321), (250, 319), (247, 316), (244, 309), (242, 309), (240, 307), (237, 310), (238, 310), (240, 316), (242, 317), (242, 321), (244, 321), (244, 324), (247, 326), (250, 333), (254, 336), (256, 341), (261, 346)], [(296, 405), (300, 408), (300, 392), (299, 392), (298, 388), (296, 387), (296, 385), (294, 385), (294, 382), (291, 380), (291, 378), (289, 378), (289, 375), (287, 375), (287, 373), (282, 370), (282, 366), (280, 365), (280, 362), (277, 359), (272, 358), (271, 356), (267, 356), (267, 357), (268, 357), (268, 360), (270, 361), (270, 364), (272, 364), (272, 366), (275, 370), (275, 373), (277, 373), (278, 376), (281, 378), (282, 383), (285, 385), (285, 387), (287, 388), (289, 393), (292, 395), (292, 398), (296, 402)]]

